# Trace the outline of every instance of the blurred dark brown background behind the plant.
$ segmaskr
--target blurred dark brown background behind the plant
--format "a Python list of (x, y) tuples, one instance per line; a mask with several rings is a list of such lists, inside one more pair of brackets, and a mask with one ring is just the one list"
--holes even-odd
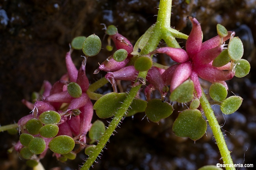
[[(158, 0), (0, 0), (0, 124), (17, 122), (29, 114), (21, 102), (30, 100), (33, 91), (39, 91), (44, 80), (51, 83), (66, 73), (65, 54), (75, 36), (97, 34), (102, 39), (102, 50), (89, 58), (86, 71), (93, 83), (104, 76), (93, 75), (112, 52), (104, 47), (104, 27), (114, 24), (119, 33), (132, 44), (150, 27), (157, 15)], [(244, 78), (227, 81), (229, 96), (241, 96), (240, 109), (223, 116), (214, 106), (234, 163), (253, 164), (256, 158), (256, 0), (173, 0), (171, 26), (189, 34), (191, 25), (187, 16), (201, 23), (204, 40), (217, 35), (216, 24), (235, 30), (244, 43), (244, 56), (251, 63), (251, 72)], [(182, 41), (182, 40), (180, 40)], [(77, 67), (83, 58), (82, 51), (74, 51), (72, 58)], [(167, 63), (165, 57), (159, 62)], [(202, 82), (209, 88), (207, 82)], [(175, 106), (181, 107), (181, 106)], [(176, 109), (177, 110), (177, 109)], [(143, 114), (125, 118), (103, 156), (94, 169), (197, 169), (204, 165), (222, 163), (211, 133), (194, 141), (176, 137), (172, 123), (177, 112), (159, 124), (143, 119)], [(96, 119), (96, 117), (95, 117)], [(29, 169), (14, 151), (7, 150), (18, 141), (18, 135), (0, 133), (1, 169)], [(84, 154), (76, 160), (59, 163), (52, 153), (42, 159), (45, 169), (78, 169)], [(254, 165), (256, 167), (256, 165)], [(246, 168), (240, 168), (243, 170)]]

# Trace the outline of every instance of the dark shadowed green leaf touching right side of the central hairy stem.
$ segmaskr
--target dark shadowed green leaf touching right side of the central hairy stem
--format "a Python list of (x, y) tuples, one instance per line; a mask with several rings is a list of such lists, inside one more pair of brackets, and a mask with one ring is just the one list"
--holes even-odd
[(141, 99), (133, 99), (131, 105), (131, 108), (128, 109), (127, 117), (135, 115), (136, 113), (145, 112), (145, 109), (147, 107), (147, 102), (145, 100)]

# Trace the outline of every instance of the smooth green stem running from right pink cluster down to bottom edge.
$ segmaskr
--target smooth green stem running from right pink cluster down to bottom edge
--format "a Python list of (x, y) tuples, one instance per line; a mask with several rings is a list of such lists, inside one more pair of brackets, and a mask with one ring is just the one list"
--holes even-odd
[[(213, 110), (211, 108), (211, 105), (206, 98), (204, 92), (202, 92), (202, 97), (200, 98), (200, 103), (203, 108), (204, 114), (208, 120), (208, 123), (212, 129), (214, 138), (216, 140), (217, 146), (219, 148), (219, 152), (221, 153), (223, 163), (233, 165), (233, 160), (230, 156), (230, 151), (228, 150), (228, 147), (226, 145), (224, 136), (221, 131), (221, 127), (219, 126), (219, 123), (213, 113)], [(235, 170), (234, 167), (226, 167), (227, 170)]]

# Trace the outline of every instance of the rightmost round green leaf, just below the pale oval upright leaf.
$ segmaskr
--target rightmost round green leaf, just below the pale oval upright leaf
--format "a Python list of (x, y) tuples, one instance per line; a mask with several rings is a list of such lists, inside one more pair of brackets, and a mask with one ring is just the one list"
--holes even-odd
[(241, 59), (235, 62), (236, 67), (236, 72), (235, 76), (238, 78), (244, 77), (245, 75), (249, 74), (251, 65), (247, 60)]

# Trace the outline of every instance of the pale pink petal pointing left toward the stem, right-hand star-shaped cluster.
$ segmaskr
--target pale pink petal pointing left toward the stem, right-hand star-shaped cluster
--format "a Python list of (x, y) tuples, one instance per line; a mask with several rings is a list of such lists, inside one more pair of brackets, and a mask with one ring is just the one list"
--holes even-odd
[(164, 53), (171, 57), (171, 59), (177, 63), (184, 63), (189, 59), (188, 54), (181, 48), (162, 47), (154, 50), (150, 54)]

